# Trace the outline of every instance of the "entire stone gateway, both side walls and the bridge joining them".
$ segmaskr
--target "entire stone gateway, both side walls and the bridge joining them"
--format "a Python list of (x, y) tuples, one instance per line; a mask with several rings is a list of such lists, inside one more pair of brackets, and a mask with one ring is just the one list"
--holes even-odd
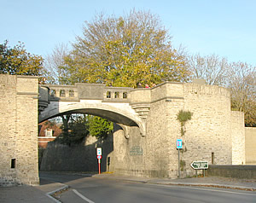
[[(0, 184), (38, 183), (38, 120), (65, 112), (94, 114), (119, 125), (107, 157), (108, 170), (115, 173), (177, 177), (177, 139), (183, 140), (182, 177), (195, 174), (190, 164), (196, 160), (245, 164), (243, 113), (230, 110), (230, 91), (222, 87), (166, 82), (151, 89), (103, 84), (38, 88), (37, 78), (9, 75), (0, 75), (0, 85)], [(181, 110), (192, 115), (183, 124), (177, 120)]]

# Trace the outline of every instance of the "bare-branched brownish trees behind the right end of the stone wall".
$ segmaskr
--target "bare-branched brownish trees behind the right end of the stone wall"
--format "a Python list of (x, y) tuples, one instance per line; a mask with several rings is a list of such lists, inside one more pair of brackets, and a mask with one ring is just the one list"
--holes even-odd
[(191, 78), (230, 89), (232, 110), (245, 113), (245, 125), (256, 126), (256, 67), (244, 62), (229, 63), (218, 55), (189, 57)]

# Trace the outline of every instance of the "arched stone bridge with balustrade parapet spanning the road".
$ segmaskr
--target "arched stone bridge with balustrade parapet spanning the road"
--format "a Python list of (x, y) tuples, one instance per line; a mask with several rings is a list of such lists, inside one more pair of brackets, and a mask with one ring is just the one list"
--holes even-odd
[(43, 84), (39, 94), (39, 123), (65, 113), (87, 113), (119, 124), (125, 136), (129, 136), (127, 126), (138, 126), (145, 136), (149, 89), (134, 90), (104, 84)]

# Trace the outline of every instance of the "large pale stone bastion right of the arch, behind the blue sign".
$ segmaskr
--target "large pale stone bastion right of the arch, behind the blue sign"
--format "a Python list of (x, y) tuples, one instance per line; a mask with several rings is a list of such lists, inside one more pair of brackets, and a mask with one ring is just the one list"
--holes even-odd
[[(140, 102), (140, 96), (146, 96)], [(149, 99), (150, 100), (149, 100)], [(165, 83), (151, 90), (131, 91), (131, 106), (148, 107), (146, 136), (134, 130), (129, 139), (113, 136), (113, 171), (148, 177), (177, 177), (176, 140), (183, 140), (181, 176), (193, 176), (190, 164), (244, 164), (243, 114), (230, 111), (230, 92), (207, 84)], [(181, 136), (179, 110), (191, 113)], [(134, 128), (134, 127), (133, 127)], [(139, 152), (136, 155), (134, 151)], [(143, 153), (140, 153), (143, 152)]]

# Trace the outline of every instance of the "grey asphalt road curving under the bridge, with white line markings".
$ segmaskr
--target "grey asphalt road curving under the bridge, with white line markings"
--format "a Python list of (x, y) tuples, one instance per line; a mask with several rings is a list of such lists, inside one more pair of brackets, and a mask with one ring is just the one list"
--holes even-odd
[(74, 175), (44, 175), (44, 178), (69, 185), (66, 192), (58, 194), (63, 203), (125, 203), (125, 202), (212, 202), (256, 203), (256, 194), (224, 188), (196, 188), (136, 183), (102, 177)]

